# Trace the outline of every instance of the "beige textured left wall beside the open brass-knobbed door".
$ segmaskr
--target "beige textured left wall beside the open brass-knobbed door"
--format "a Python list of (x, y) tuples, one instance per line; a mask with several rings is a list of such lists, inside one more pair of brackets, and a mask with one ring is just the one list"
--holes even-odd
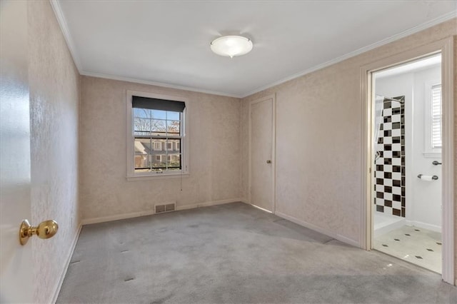
[(32, 238), (35, 303), (50, 303), (79, 228), (79, 74), (49, 1), (28, 1), (31, 223), (59, 232)]

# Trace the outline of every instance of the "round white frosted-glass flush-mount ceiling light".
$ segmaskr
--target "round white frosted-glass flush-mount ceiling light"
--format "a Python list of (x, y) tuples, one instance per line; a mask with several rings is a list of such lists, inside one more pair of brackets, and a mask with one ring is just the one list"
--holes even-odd
[(222, 36), (211, 42), (211, 51), (230, 58), (246, 55), (252, 47), (252, 41), (243, 36)]

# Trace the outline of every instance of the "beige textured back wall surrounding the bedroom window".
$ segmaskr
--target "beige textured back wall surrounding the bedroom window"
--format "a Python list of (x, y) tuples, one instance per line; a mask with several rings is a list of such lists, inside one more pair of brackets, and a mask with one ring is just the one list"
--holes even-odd
[[(126, 180), (126, 91), (184, 96), (190, 176)], [(83, 220), (151, 211), (176, 201), (192, 206), (240, 197), (240, 99), (139, 83), (81, 77), (81, 216)]]

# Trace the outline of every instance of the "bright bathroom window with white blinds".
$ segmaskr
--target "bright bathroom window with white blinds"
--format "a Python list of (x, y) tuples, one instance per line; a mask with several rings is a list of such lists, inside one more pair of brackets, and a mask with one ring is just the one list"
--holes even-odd
[(441, 83), (426, 83), (425, 157), (441, 157)]

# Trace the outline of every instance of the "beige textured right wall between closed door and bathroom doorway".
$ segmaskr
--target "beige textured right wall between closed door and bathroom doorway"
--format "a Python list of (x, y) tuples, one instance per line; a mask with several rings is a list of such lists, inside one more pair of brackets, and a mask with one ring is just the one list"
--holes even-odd
[[(456, 34), (453, 19), (243, 98), (248, 159), (248, 102), (276, 93), (276, 211), (360, 243), (361, 66)], [(247, 166), (241, 180), (247, 198)]]

